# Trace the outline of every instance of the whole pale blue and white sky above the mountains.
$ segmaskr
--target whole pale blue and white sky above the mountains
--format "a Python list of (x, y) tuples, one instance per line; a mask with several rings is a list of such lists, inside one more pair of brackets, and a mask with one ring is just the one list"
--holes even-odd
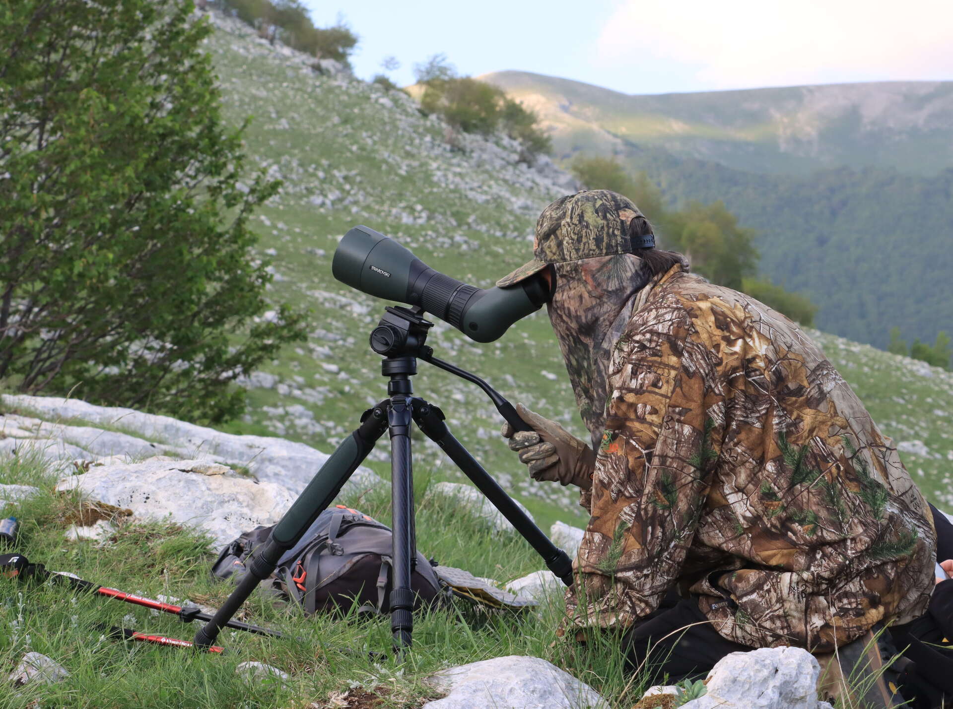
[[(304, 0), (360, 36), (355, 73), (401, 86), (446, 54), (624, 93), (953, 79), (953, 0)], [(381, 61), (394, 56), (395, 71)]]

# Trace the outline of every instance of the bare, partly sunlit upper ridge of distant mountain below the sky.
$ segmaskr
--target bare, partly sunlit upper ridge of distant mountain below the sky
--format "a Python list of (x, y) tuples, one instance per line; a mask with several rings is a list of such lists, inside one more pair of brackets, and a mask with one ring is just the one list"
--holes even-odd
[(536, 110), (561, 156), (628, 140), (750, 172), (953, 167), (953, 81), (628, 95), (526, 71), (479, 78)]

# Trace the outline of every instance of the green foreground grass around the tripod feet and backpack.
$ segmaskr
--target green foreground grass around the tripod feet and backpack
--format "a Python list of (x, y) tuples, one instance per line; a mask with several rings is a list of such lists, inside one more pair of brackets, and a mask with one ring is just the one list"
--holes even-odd
[[(70, 571), (96, 583), (147, 598), (166, 595), (215, 606), (229, 585), (209, 576), (213, 555), (200, 532), (168, 522), (112, 519), (116, 531), (104, 544), (67, 541), (64, 532), (83, 514), (75, 495), (52, 492), (54, 478), (38, 458), (0, 460), (0, 482), (35, 485), (40, 495), (5, 514), (21, 520), (17, 551), (55, 571)], [(536, 571), (540, 562), (520, 538), (491, 533), (454, 503), (416, 491), (418, 547), (428, 557), (466, 568), (477, 576), (509, 579)], [(389, 521), (389, 499), (371, 492), (348, 503)], [(195, 624), (118, 601), (73, 595), (65, 588), (26, 585), (0, 578), (0, 673), (12, 670), (32, 650), (67, 668), (70, 678), (51, 686), (27, 685), (0, 694), (0, 707), (37, 701), (63, 707), (308, 707), (334, 706), (331, 698), (362, 687), (379, 704), (337, 706), (416, 707), (435, 692), (423, 679), (444, 667), (506, 655), (533, 655), (566, 667), (614, 705), (631, 706), (641, 696), (625, 677), (618, 650), (602, 643), (583, 651), (556, 637), (561, 600), (537, 615), (487, 615), (465, 601), (416, 618), (415, 646), (405, 659), (374, 662), (368, 651), (390, 648), (388, 618), (302, 618), (294, 607), (278, 608), (253, 597), (240, 618), (272, 627), (287, 638), (259, 638), (226, 631), (224, 656), (124, 643), (103, 638), (97, 625), (190, 639)], [(288, 673), (286, 683), (246, 683), (238, 663), (257, 660)], [(335, 693), (337, 693), (335, 695)], [(343, 699), (342, 699), (343, 701)], [(312, 704), (312, 702), (315, 702)]]

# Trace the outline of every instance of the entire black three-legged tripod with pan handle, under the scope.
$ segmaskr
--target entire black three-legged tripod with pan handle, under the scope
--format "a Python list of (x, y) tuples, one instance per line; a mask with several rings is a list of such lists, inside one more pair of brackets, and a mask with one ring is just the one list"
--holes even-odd
[(416, 375), (416, 360), (423, 359), (451, 374), (473, 382), (493, 401), (497, 411), (517, 431), (532, 430), (516, 409), (489, 384), (476, 375), (437, 359), (426, 345), (427, 331), (433, 323), (423, 319), (423, 310), (387, 307), (386, 313), (371, 333), (371, 348), (384, 356), (381, 374), (389, 377), (388, 398), (364, 412), (360, 427), (337, 447), (321, 466), (284, 517), (274, 525), (265, 544), (255, 550), (247, 575), (218, 609), (208, 623), (195, 634), (195, 645), (212, 645), (219, 631), (252, 595), (259, 582), (271, 576), (278, 560), (308, 530), (314, 519), (328, 507), (347, 479), (374, 448), (377, 438), (388, 431), (391, 436), (391, 507), (393, 513), (394, 548), (391, 608), (391, 632), (395, 647), (402, 652), (411, 645), (414, 630), (414, 591), (411, 574), (416, 562), (414, 532), (414, 478), (411, 461), (411, 423), (433, 440), (456, 466), (476, 485), (537, 551), (546, 566), (567, 586), (573, 582), (572, 562), (564, 551), (546, 537), (530, 517), (497, 484), (476, 458), (450, 433), (443, 412), (433, 404), (415, 396), (410, 377)]

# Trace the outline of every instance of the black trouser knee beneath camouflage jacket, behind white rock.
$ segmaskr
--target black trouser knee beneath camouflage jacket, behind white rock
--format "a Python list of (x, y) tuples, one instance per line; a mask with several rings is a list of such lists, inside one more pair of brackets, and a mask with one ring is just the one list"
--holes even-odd
[(659, 684), (666, 675), (673, 684), (705, 679), (721, 658), (754, 649), (722, 638), (701, 613), (697, 600), (674, 593), (665, 597), (658, 611), (629, 629), (622, 647), (629, 672), (648, 670), (652, 684)]

